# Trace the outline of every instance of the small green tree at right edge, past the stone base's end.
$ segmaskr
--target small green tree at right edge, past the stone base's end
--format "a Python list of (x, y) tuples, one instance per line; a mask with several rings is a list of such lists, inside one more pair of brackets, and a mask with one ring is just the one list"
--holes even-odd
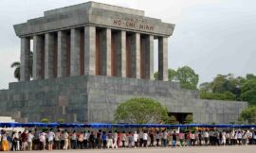
[(256, 106), (243, 110), (240, 114), (240, 120), (241, 118), (244, 121), (247, 121), (249, 124), (255, 124), (256, 123)]

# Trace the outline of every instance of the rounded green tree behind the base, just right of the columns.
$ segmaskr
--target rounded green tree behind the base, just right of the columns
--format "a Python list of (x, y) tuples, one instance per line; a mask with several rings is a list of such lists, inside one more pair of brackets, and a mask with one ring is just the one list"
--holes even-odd
[(181, 88), (196, 90), (199, 76), (195, 74), (191, 67), (183, 66), (177, 69), (175, 80), (180, 82)]

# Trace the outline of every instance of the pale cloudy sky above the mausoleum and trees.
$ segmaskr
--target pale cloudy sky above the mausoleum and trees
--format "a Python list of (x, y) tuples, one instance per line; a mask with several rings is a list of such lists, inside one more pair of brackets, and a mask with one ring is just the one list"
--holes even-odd
[[(44, 11), (86, 0), (1, 0), (0, 89), (8, 89), (13, 61), (20, 59), (20, 39), (13, 25), (41, 17)], [(255, 0), (96, 0), (145, 11), (145, 15), (175, 25), (168, 40), (169, 68), (188, 65), (199, 83), (218, 74), (256, 74)], [(156, 47), (155, 47), (156, 48)], [(157, 49), (155, 49), (157, 50)], [(155, 51), (155, 71), (157, 54)]]

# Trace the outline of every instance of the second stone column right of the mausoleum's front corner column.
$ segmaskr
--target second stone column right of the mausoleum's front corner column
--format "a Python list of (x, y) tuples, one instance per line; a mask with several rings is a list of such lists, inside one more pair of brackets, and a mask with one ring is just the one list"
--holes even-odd
[(118, 76), (126, 76), (126, 32), (120, 31), (117, 37), (117, 69)]

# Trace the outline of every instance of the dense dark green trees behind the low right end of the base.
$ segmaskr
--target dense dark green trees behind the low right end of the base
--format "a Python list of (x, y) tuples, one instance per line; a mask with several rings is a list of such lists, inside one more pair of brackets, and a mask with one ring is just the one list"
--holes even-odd
[(252, 74), (246, 77), (217, 75), (199, 87), (202, 99), (247, 101), (249, 105), (256, 105), (256, 76)]

